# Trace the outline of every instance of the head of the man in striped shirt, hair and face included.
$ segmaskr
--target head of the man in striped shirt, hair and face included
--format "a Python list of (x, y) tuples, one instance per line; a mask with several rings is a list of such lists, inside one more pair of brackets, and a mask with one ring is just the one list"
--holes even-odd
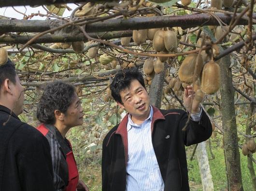
[(142, 73), (137, 68), (118, 72), (110, 85), (111, 94), (117, 104), (137, 118), (149, 114), (149, 96)]

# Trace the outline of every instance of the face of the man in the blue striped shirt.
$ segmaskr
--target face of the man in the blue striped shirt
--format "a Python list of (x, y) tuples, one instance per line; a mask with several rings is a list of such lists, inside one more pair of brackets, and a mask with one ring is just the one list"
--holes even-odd
[(149, 96), (138, 80), (131, 81), (129, 88), (120, 91), (120, 96), (123, 104), (118, 105), (131, 114), (132, 118), (144, 120), (148, 117)]

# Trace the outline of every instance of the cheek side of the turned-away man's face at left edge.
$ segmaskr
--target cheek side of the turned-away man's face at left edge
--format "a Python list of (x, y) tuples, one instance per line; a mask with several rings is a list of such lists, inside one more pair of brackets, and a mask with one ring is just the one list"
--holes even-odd
[(16, 80), (16, 84), (13, 84), (11, 82), (11, 84), (12, 84), (11, 86), (13, 87), (12, 93), (13, 93), (14, 100), (15, 100), (13, 112), (16, 115), (20, 115), (23, 112), (24, 89), (23, 89), (22, 85), (20, 84), (20, 79), (17, 75), (15, 77), (15, 80)]

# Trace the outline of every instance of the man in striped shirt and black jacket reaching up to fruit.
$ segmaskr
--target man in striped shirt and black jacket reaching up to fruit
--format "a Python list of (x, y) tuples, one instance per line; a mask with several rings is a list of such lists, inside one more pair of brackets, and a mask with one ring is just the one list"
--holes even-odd
[(192, 86), (184, 92), (184, 105), (191, 108), (185, 129), (187, 112), (150, 105), (138, 69), (118, 72), (110, 88), (128, 114), (103, 140), (102, 191), (189, 191), (185, 145), (212, 134), (208, 116), (193, 99)]

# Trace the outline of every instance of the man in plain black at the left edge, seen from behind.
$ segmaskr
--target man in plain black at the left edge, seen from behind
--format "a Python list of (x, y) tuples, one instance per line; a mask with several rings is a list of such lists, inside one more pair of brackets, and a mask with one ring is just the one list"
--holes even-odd
[(54, 191), (50, 147), (20, 121), (24, 89), (8, 60), (0, 65), (0, 191)]

